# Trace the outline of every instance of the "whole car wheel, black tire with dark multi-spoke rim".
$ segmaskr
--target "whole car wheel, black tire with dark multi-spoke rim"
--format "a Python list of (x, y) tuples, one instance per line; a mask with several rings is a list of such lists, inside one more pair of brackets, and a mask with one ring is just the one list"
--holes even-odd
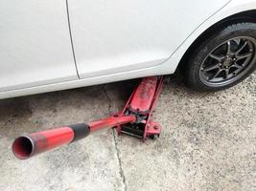
[(199, 43), (185, 66), (184, 80), (194, 90), (215, 92), (238, 84), (255, 69), (256, 24), (237, 23)]

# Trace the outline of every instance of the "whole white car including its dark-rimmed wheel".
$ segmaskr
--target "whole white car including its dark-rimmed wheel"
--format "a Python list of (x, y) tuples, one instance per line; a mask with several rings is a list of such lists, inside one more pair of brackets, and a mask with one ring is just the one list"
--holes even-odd
[(255, 49), (256, 0), (0, 0), (0, 98), (175, 71), (218, 91)]

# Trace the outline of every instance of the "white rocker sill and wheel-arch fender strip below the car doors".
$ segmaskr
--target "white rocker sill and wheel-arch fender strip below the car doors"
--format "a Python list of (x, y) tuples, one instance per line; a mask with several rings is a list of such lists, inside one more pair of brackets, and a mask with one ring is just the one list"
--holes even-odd
[(154, 65), (152, 67), (133, 70), (128, 72), (121, 72), (116, 74), (103, 74), (100, 76), (92, 76), (83, 79), (75, 79), (70, 81), (63, 81), (59, 83), (52, 83), (48, 85), (34, 86), (30, 88), (17, 89), (12, 91), (5, 91), (0, 93), (0, 98), (12, 96), (24, 96), (31, 94), (38, 94), (44, 92), (52, 92), (57, 90), (78, 88), (82, 86), (102, 84), (118, 80), (125, 80), (130, 78), (142, 77), (155, 74), (173, 74), (175, 69), (191, 44), (198, 38), (198, 36), (209, 29), (212, 25), (226, 18), (242, 11), (256, 10), (255, 0), (232, 0), (229, 4), (224, 6), (220, 11), (216, 11), (209, 18), (205, 19), (194, 32), (191, 32), (186, 39), (175, 49), (164, 62)]

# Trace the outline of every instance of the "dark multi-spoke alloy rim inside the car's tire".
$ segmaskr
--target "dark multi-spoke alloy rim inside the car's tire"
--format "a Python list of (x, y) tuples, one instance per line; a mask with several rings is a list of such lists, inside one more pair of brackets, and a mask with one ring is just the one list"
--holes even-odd
[(247, 72), (255, 57), (255, 39), (231, 38), (208, 53), (201, 63), (199, 77), (205, 84), (224, 85)]

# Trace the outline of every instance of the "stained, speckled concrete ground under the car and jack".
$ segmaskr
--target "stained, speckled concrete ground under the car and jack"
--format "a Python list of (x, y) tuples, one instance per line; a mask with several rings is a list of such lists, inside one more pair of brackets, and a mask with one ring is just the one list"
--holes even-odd
[(256, 74), (214, 94), (165, 85), (161, 138), (111, 129), (18, 160), (13, 138), (120, 111), (133, 81), (0, 100), (0, 190), (256, 190)]

